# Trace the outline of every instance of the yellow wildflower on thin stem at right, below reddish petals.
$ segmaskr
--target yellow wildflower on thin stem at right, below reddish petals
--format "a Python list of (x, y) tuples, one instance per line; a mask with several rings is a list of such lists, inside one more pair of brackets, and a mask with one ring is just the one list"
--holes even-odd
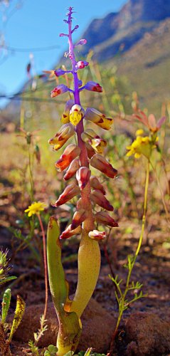
[(129, 152), (127, 152), (127, 156), (129, 157), (134, 155), (135, 158), (139, 158), (141, 155), (144, 155), (149, 159), (154, 147), (156, 146), (149, 136), (137, 136), (136, 140), (132, 142), (132, 145), (127, 146), (127, 150), (129, 150)]

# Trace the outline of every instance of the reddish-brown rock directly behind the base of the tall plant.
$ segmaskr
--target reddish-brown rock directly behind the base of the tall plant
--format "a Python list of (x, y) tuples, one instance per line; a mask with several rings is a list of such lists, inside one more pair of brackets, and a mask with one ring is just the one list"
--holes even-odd
[[(15, 340), (24, 342), (33, 340), (33, 333), (36, 333), (40, 328), (40, 317), (43, 314), (43, 308), (43, 304), (30, 305), (26, 308), (23, 320), (14, 335)], [(48, 330), (41, 337), (38, 343), (39, 347), (55, 345), (57, 340), (58, 319), (53, 303), (48, 304), (46, 319)], [(83, 323), (83, 332), (78, 350), (87, 350), (88, 347), (93, 347), (95, 352), (106, 353), (110, 347), (116, 319), (110, 316), (99, 303), (91, 299), (87, 308), (85, 308), (81, 321)]]

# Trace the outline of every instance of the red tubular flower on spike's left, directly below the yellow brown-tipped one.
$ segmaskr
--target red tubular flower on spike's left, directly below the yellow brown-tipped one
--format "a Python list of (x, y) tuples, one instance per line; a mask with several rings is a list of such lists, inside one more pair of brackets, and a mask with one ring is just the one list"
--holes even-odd
[(65, 168), (69, 166), (69, 164), (80, 155), (80, 147), (76, 145), (68, 145), (65, 148), (63, 155), (61, 155), (60, 159), (55, 162), (55, 167), (58, 169), (59, 172), (62, 172)]

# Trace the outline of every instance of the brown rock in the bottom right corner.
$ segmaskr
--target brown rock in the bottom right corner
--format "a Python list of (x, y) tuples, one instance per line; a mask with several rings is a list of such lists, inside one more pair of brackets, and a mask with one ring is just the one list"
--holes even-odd
[(126, 323), (126, 356), (158, 356), (170, 352), (170, 328), (156, 314), (134, 313)]

